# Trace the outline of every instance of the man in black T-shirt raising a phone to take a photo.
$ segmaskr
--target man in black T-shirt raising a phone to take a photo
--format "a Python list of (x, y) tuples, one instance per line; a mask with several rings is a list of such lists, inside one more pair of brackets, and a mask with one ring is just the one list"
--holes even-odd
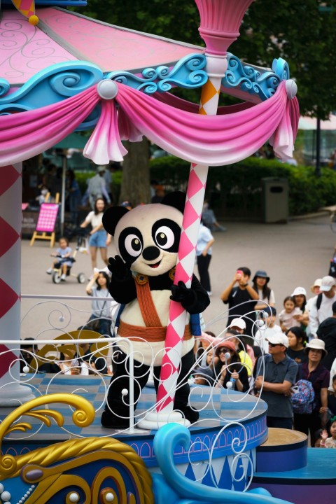
[(229, 305), (228, 324), (231, 325), (234, 318), (243, 318), (246, 323), (246, 332), (252, 336), (253, 323), (255, 322), (255, 304), (259, 295), (251, 284), (251, 269), (239, 267), (229, 285), (223, 290), (221, 300)]

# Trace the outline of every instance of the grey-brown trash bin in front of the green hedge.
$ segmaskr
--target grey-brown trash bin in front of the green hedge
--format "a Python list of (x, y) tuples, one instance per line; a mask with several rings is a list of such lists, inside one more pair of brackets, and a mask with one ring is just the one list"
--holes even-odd
[(288, 180), (266, 177), (262, 180), (262, 216), (265, 223), (288, 222)]

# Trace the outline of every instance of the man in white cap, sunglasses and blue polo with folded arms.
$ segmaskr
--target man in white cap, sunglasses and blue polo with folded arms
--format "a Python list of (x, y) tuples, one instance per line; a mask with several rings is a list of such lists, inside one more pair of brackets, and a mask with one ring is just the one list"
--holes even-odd
[[(276, 332), (267, 337), (269, 354), (258, 359), (255, 389), (267, 402), (267, 427), (293, 428), (290, 388), (295, 384), (297, 363), (286, 355), (288, 337)], [(265, 367), (264, 367), (265, 366)]]

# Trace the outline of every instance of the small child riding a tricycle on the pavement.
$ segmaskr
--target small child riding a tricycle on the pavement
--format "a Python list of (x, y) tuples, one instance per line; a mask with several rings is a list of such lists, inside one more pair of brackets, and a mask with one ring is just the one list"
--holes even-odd
[(76, 251), (72, 255), (72, 248), (69, 247), (69, 239), (66, 237), (59, 238), (59, 248), (56, 252), (52, 252), (50, 255), (55, 257), (52, 262), (52, 267), (47, 269), (48, 274), (52, 274), (52, 281), (54, 283), (60, 283), (61, 281), (66, 281), (66, 276), (75, 276), (79, 283), (85, 282), (85, 274), (79, 273), (78, 275), (71, 273), (71, 267), (73, 262), (76, 262), (76, 253), (78, 251), (79, 245), (76, 247)]

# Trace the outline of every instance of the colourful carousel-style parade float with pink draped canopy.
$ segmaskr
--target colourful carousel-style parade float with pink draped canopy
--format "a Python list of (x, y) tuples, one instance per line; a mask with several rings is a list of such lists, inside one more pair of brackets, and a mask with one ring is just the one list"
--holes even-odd
[[(174, 411), (186, 325), (179, 302), (169, 311), (158, 396), (145, 387), (123, 430), (100, 424), (109, 379), (99, 372), (39, 374), (40, 349), (25, 379), (19, 375), (22, 161), (89, 128), (84, 155), (98, 165), (123, 160), (122, 140), (143, 136), (188, 160), (174, 280), (188, 287), (208, 167), (244, 159), (266, 141), (278, 158), (293, 155), (299, 111), (288, 65), (279, 58), (260, 69), (228, 52), (251, 0), (196, 0), (205, 50), (64, 9), (76, 1), (14, 3), (18, 10), (1, 3), (0, 19), (1, 503), (299, 504), (315, 502), (321, 486), (323, 502), (332, 503), (332, 454), (322, 450), (323, 462), (298, 433), (280, 441), (269, 435), (260, 398), (192, 386), (189, 402), (200, 419), (187, 428)], [(169, 92), (176, 86), (200, 88), (200, 105), (176, 98)], [(218, 108), (221, 92), (241, 104)], [(96, 337), (66, 330), (57, 351), (78, 351)], [(132, 407), (129, 344), (124, 395)]]

